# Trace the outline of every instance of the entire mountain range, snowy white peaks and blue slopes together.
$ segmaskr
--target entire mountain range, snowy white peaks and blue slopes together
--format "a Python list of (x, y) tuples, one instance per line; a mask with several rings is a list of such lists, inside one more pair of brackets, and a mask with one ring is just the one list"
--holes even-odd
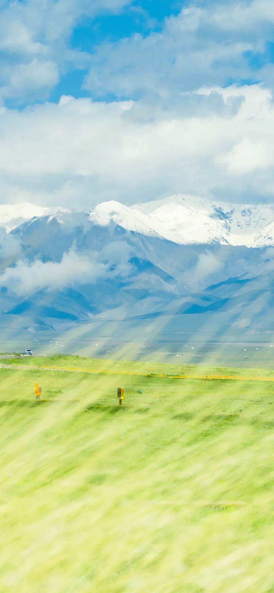
[(2, 350), (89, 353), (97, 341), (107, 355), (110, 343), (260, 342), (274, 330), (272, 206), (6, 205), (0, 227)]

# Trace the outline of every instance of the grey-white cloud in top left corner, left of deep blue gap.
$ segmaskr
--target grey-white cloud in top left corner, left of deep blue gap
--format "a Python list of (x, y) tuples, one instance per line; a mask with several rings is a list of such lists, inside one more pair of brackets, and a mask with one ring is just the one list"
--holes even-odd
[(81, 15), (117, 12), (127, 0), (18, 0), (0, 6), (0, 97), (40, 100), (59, 79), (90, 62), (67, 41)]

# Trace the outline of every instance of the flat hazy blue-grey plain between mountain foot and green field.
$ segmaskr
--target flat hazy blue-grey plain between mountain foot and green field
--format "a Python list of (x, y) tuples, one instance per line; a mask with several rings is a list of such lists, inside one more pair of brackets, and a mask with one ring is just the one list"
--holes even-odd
[[(190, 340), (189, 340), (190, 338)], [(174, 339), (174, 337), (173, 337)], [(62, 336), (58, 342), (39, 337), (36, 340), (9, 341), (0, 350), (0, 358), (5, 354), (24, 352), (31, 347), (35, 358), (56, 355), (60, 352), (60, 344), (64, 343), (63, 354), (70, 355), (73, 351), (86, 357), (88, 361), (96, 360), (128, 360), (151, 362), (157, 364), (199, 365), (199, 366), (232, 366), (238, 368), (269, 368), (274, 369), (274, 342), (196, 342), (194, 336), (184, 334), (178, 341), (163, 339), (135, 342), (120, 340), (117, 336), (93, 336), (93, 339), (65, 340)], [(62, 351), (62, 350), (61, 350)]]

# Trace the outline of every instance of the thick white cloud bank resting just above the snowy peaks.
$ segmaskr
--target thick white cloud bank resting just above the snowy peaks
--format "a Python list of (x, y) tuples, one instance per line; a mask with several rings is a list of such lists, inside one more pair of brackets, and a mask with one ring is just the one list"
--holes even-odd
[(2, 202), (88, 209), (108, 199), (130, 204), (177, 192), (270, 199), (270, 91), (260, 85), (214, 87), (188, 98), (191, 113), (175, 117), (166, 110), (154, 120), (147, 120), (141, 102), (72, 97), (21, 112), (2, 109)]

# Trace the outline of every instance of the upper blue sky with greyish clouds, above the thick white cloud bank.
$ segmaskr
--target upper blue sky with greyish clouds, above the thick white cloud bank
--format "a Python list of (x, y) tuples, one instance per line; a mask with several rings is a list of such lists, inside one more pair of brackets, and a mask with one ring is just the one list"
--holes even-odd
[[(261, 2), (267, 4), (264, 0)], [(259, 3), (218, 4), (203, 0), (194, 3), (181, 0), (4, 1), (2, 9), (0, 6), (2, 101), (8, 107), (20, 109), (47, 99), (58, 102), (63, 94), (94, 100), (136, 100), (149, 91), (147, 80), (140, 80), (143, 68), (147, 73), (151, 69), (156, 87), (159, 87), (159, 79), (161, 85), (169, 85), (171, 75), (173, 95), (176, 93), (174, 83), (180, 90), (192, 90), (200, 83), (225, 86), (233, 82), (252, 84), (264, 81), (263, 71), (267, 64), (273, 63), (274, 57), (273, 20), (261, 18), (250, 28), (248, 23), (247, 27), (239, 23), (237, 29), (237, 26), (225, 27), (225, 20), (222, 23), (221, 18), (217, 23), (211, 18), (214, 10), (216, 15), (223, 11), (224, 19), (227, 15), (231, 18), (237, 9), (243, 12), (243, 7), (246, 12), (252, 12), (252, 8), (256, 12), (256, 4)], [(189, 14), (200, 13), (202, 18), (198, 27), (192, 24), (180, 35), (176, 20), (180, 20), (183, 10)], [(154, 51), (150, 46), (146, 59), (146, 40), (149, 39)], [(227, 55), (225, 47), (231, 49)], [(178, 71), (178, 62), (182, 59), (187, 62), (189, 57), (191, 63), (197, 49), (204, 58), (210, 49), (215, 53), (214, 59), (210, 56), (210, 64), (208, 61), (202, 64), (204, 72), (197, 60), (191, 64), (191, 76), (185, 67)], [(157, 72), (153, 68), (155, 60), (158, 62)], [(31, 75), (33, 61), (37, 67)], [(159, 72), (159, 62), (162, 61), (163, 68), (170, 69), (170, 73)], [(169, 62), (167, 67), (166, 62)], [(43, 72), (45, 65), (46, 72)], [(116, 80), (109, 69), (116, 70)], [(22, 84), (24, 71), (27, 71), (27, 82)], [(155, 80), (155, 74), (158, 80)], [(188, 79), (182, 82), (184, 74)], [(34, 80), (31, 80), (32, 76)], [(121, 83), (122, 78), (124, 84), (118, 88), (118, 79)]]

